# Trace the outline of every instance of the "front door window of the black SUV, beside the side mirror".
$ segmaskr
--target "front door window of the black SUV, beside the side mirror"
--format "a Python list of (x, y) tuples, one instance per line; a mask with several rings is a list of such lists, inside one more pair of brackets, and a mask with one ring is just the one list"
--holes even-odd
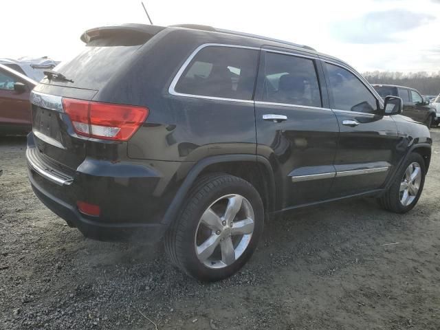
[(329, 91), (333, 96), (334, 108), (339, 110), (374, 113), (376, 98), (368, 88), (347, 69), (325, 63), (329, 74)]

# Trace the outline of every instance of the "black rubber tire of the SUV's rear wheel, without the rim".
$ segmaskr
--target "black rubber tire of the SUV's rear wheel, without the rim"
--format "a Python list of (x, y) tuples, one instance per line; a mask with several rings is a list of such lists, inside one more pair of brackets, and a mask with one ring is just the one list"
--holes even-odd
[[(254, 212), (254, 231), (244, 252), (231, 265), (214, 269), (197, 258), (195, 237), (199, 220), (217, 199), (239, 194), (247, 199)], [(223, 173), (199, 178), (190, 190), (179, 217), (170, 226), (165, 238), (165, 250), (171, 262), (199, 281), (219, 281), (240, 270), (256, 249), (264, 225), (264, 208), (259, 192), (248, 181)], [(212, 234), (212, 233), (211, 233)]]

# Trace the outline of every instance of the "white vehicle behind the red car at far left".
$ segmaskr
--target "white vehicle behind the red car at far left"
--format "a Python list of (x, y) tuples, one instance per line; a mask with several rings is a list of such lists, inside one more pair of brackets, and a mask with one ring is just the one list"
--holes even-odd
[(47, 56), (41, 58), (19, 58), (18, 60), (0, 58), (0, 64), (10, 67), (37, 82), (43, 79), (43, 72), (45, 70), (53, 69), (58, 63), (47, 58)]

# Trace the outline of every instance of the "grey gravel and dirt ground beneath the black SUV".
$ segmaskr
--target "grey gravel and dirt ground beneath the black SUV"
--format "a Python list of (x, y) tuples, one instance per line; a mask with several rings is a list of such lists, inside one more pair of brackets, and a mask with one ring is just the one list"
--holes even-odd
[(440, 129), (431, 132), (414, 210), (355, 199), (289, 214), (266, 223), (239, 274), (214, 284), (175, 270), (160, 245), (84, 239), (34, 196), (25, 139), (3, 138), (0, 329), (437, 330)]

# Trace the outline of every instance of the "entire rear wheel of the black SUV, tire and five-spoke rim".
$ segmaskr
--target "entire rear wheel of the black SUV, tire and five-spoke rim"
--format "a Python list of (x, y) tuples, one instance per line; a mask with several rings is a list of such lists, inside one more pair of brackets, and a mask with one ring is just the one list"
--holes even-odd
[[(232, 214), (228, 217), (228, 206), (229, 210), (236, 206), (239, 211), (236, 215), (228, 213)], [(165, 250), (171, 262), (189, 276), (204, 282), (220, 281), (250, 259), (263, 225), (263, 202), (252, 184), (223, 173), (206, 175), (197, 179), (179, 217), (170, 226), (164, 239)], [(241, 231), (247, 234), (236, 234)], [(217, 244), (212, 254), (208, 248), (203, 249), (214, 246), (208, 241)]]

